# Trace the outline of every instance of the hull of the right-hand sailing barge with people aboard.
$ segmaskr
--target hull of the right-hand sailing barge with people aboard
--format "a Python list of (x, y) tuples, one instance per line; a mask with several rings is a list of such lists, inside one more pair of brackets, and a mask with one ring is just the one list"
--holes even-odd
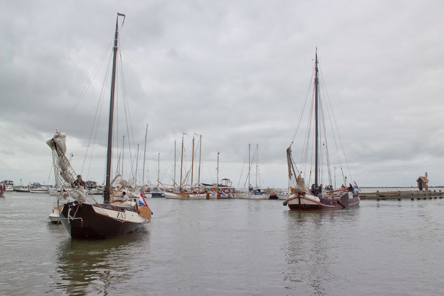
[(339, 198), (322, 198), (309, 194), (293, 194), (284, 205), (288, 205), (290, 210), (310, 211), (310, 210), (341, 210), (345, 208), (358, 207), (359, 196), (354, 196), (351, 192), (345, 192)]

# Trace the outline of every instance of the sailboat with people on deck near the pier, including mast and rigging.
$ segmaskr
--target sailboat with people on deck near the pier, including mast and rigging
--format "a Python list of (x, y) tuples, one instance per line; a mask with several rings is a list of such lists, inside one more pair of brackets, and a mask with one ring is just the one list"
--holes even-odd
[[(289, 179), (292, 179), (292, 176), (296, 178), (296, 186), (291, 187), (291, 195), (283, 202), (284, 206), (288, 205), (291, 210), (334, 210), (334, 209), (344, 209), (359, 206), (360, 198), (357, 190), (354, 190), (352, 185), (345, 189), (334, 190), (332, 186), (332, 178), (330, 171), (330, 158), (328, 154), (328, 145), (327, 145), (327, 137), (326, 137), (326, 128), (324, 122), (324, 113), (327, 113), (330, 116), (330, 110), (328, 109), (330, 104), (326, 104), (322, 102), (319, 94), (319, 69), (318, 69), (318, 53), (316, 49), (315, 55), (315, 67), (314, 67), (314, 100), (312, 109), (314, 111), (314, 184), (311, 189), (308, 189), (305, 184), (304, 178), (301, 176), (301, 171), (299, 171), (296, 167), (296, 164), (292, 158), (292, 149), (291, 145), (287, 148), (287, 163), (288, 163), (288, 176)], [(333, 112), (333, 111), (332, 111)], [(302, 116), (302, 113), (301, 113)], [(309, 115), (310, 116), (310, 115)], [(320, 118), (321, 117), (321, 118)], [(334, 119), (334, 116), (332, 116)], [(311, 116), (309, 117), (311, 118)], [(321, 120), (322, 119), (322, 120)], [(299, 119), (300, 120), (300, 119)], [(306, 135), (309, 134), (310, 130), (310, 119), (308, 120), (309, 125), (307, 127)], [(300, 123), (300, 121), (299, 121)], [(337, 125), (336, 125), (337, 127)], [(296, 130), (297, 132), (297, 130)], [(296, 137), (295, 132), (295, 137)], [(321, 133), (324, 138), (322, 138), (323, 143), (322, 147), (320, 147)], [(339, 132), (337, 132), (339, 135)], [(333, 134), (334, 137), (334, 134)], [(309, 138), (309, 137), (308, 137)], [(301, 159), (308, 159), (308, 150), (310, 145), (310, 140), (307, 138), (305, 142), (305, 149), (302, 152)], [(336, 143), (336, 142), (335, 142)], [(292, 142), (293, 144), (293, 142)], [(342, 145), (342, 144), (341, 144)], [(329, 175), (329, 185), (323, 188), (320, 172), (323, 171), (321, 162), (322, 152), (325, 153), (325, 163)], [(339, 156), (339, 153), (338, 153)], [(324, 160), (324, 158), (322, 158)], [(302, 162), (302, 160), (301, 160)], [(302, 164), (301, 164), (302, 165)], [(347, 165), (348, 166), (348, 165)], [(342, 166), (341, 166), (342, 170)], [(311, 167), (310, 167), (310, 175), (311, 177)], [(297, 176), (297, 177), (296, 177)], [(344, 177), (345, 183), (346, 177)], [(311, 180), (309, 180), (311, 181)], [(309, 182), (310, 183), (310, 182)], [(359, 188), (358, 188), (359, 189)]]

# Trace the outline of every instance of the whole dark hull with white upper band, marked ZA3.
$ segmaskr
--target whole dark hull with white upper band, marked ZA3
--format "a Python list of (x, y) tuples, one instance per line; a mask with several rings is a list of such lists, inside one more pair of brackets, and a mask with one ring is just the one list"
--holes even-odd
[(63, 206), (60, 221), (73, 239), (104, 239), (119, 236), (139, 231), (149, 222), (137, 212), (120, 207), (78, 202)]

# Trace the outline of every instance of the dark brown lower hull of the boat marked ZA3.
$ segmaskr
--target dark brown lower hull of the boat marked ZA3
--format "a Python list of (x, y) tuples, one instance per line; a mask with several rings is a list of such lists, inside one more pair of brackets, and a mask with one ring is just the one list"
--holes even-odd
[[(68, 211), (71, 208), (70, 219)], [(60, 221), (73, 239), (104, 239), (139, 231), (143, 224), (121, 222), (96, 213), (90, 204), (68, 203), (63, 206)]]

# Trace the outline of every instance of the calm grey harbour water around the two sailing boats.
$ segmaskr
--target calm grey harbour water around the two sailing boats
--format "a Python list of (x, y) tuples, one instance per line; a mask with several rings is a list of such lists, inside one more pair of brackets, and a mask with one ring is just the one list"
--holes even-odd
[(290, 212), (149, 199), (146, 230), (71, 241), (47, 194), (0, 198), (0, 295), (443, 295), (444, 200)]

